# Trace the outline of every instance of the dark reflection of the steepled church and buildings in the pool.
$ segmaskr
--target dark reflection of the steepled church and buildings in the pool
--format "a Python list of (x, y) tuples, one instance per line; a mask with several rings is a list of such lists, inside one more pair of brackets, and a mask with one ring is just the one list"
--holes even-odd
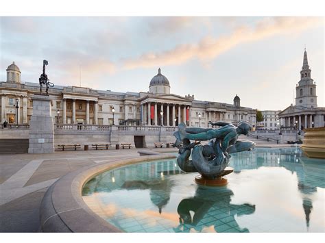
[(305, 157), (297, 149), (258, 149), (253, 153), (234, 155), (230, 165), (234, 167), (235, 173), (271, 166), (285, 168), (292, 175), (296, 175), (308, 231), (313, 210), (313, 194), (317, 192), (317, 188), (325, 188), (324, 162), (324, 159)]

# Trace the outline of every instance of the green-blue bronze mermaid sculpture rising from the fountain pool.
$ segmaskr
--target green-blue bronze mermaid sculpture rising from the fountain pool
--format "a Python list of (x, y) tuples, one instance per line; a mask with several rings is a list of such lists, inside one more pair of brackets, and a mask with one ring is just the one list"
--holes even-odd
[[(217, 181), (224, 175), (233, 171), (226, 169), (230, 162), (230, 154), (241, 151), (250, 151), (255, 144), (251, 141), (238, 141), (239, 135), (247, 135), (250, 131), (250, 123), (241, 121), (238, 126), (230, 123), (217, 122), (209, 124), (219, 126), (219, 129), (188, 127), (184, 123), (178, 125), (178, 131), (173, 133), (176, 137), (174, 146), (179, 148), (178, 166), (185, 172), (199, 172), (201, 177), (196, 177), (197, 183)], [(191, 142), (194, 140), (195, 142)], [(201, 141), (209, 140), (208, 144), (202, 145)], [(189, 157), (192, 155), (192, 159)], [(204, 182), (202, 182), (204, 181)], [(226, 183), (226, 179), (222, 183)], [(211, 183), (211, 186), (214, 183)]]

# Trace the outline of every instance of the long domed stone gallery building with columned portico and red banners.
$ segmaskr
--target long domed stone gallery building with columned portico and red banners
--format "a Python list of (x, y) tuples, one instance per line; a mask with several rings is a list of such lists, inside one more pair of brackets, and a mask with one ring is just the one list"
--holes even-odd
[[(21, 71), (13, 62), (0, 82), (1, 123), (28, 125), (33, 114), (32, 97), (38, 83), (21, 83)], [(237, 124), (248, 120), (256, 127), (256, 110), (241, 107), (236, 95), (233, 104), (197, 101), (193, 95), (170, 93), (170, 84), (160, 68), (149, 82), (149, 92), (112, 92), (76, 86), (49, 88), (53, 123), (84, 125), (145, 125), (208, 127), (208, 121)]]

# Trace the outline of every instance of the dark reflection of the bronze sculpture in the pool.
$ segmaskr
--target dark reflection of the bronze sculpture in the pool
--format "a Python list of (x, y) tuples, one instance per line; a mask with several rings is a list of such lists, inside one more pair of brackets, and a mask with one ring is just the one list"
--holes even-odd
[[(178, 205), (180, 225), (175, 231), (190, 232), (191, 229), (202, 232), (207, 227), (213, 226), (215, 232), (249, 232), (241, 229), (234, 216), (253, 214), (255, 205), (244, 203), (234, 205), (230, 203), (233, 196), (232, 190), (227, 188), (214, 188), (207, 190), (198, 187), (195, 196), (183, 199)], [(191, 215), (191, 212), (194, 214)], [(211, 231), (211, 228), (210, 228)]]

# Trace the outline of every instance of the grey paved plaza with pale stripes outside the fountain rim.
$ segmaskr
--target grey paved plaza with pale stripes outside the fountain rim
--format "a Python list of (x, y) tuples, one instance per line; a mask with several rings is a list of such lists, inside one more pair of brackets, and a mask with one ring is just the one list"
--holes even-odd
[[(171, 151), (171, 149), (154, 150)], [(137, 151), (138, 149), (110, 149), (58, 151), (46, 155), (1, 155), (0, 231), (38, 232), (40, 203), (47, 188), (56, 180), (85, 166), (138, 157)]]

